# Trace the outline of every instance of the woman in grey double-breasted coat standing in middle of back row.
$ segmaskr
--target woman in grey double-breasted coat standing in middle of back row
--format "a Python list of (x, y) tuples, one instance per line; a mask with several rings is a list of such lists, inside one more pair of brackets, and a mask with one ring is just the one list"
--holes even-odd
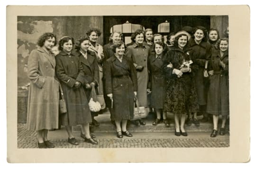
[[(147, 83), (148, 83), (148, 72), (147, 72), (147, 58), (150, 56), (150, 47), (147, 46), (144, 41), (144, 31), (142, 29), (136, 30), (131, 39), (133, 45), (127, 47), (125, 55), (131, 58), (134, 67), (137, 71), (137, 82), (138, 82), (138, 95), (137, 99), (143, 107), (147, 107)], [(137, 126), (146, 125), (146, 122), (139, 119), (133, 121)]]

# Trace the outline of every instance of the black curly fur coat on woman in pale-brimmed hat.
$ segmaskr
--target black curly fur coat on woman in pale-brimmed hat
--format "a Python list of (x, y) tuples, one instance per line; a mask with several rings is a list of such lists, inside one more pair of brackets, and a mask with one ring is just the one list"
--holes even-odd
[[(167, 80), (166, 97), (164, 103), (164, 111), (184, 114), (195, 113), (198, 111), (197, 95), (194, 81), (194, 73), (196, 65), (191, 65), (191, 72), (183, 72), (181, 77), (173, 74), (173, 70), (180, 69), (183, 59), (190, 60), (190, 56), (185, 50), (176, 47), (168, 51), (164, 58), (164, 71)], [(167, 65), (172, 63), (173, 68)]]

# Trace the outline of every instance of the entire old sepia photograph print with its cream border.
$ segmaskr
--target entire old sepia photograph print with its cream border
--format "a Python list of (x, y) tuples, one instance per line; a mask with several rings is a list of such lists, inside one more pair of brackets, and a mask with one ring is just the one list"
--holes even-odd
[[(14, 40), (8, 41), (12, 47), (7, 52), (15, 64), (7, 60), (7, 67), (16, 67), (9, 80), (17, 82), (7, 85), (17, 96), (9, 100), (17, 105), (8, 110), (10, 162), (33, 161), (32, 152), (41, 151), (92, 152), (97, 157), (66, 162), (154, 162), (133, 157), (152, 151), (173, 152), (177, 159), (188, 152), (190, 158), (183, 162), (246, 162), (248, 125), (240, 128), (248, 133), (239, 137), (247, 140), (242, 150), (235, 150), (241, 151), (239, 157), (201, 157), (230, 154), (237, 147), (238, 103), (232, 91), (241, 86), (232, 82), (239, 81), (234, 65), (241, 56), (234, 51), (241, 33), (235, 32), (242, 30), (234, 18), (241, 19), (238, 9), (247, 24), (248, 8), (168, 7), (44, 6), (29, 13), (24, 11), (33, 6), (9, 6), (7, 29), (16, 33), (7, 34)], [(58, 12), (44, 15), (46, 8)], [(122, 13), (124, 8), (130, 10)], [(147, 12), (154, 9), (158, 11)], [(137, 12), (128, 12), (132, 10)], [(248, 53), (240, 65), (247, 68), (249, 50), (239, 52)], [(243, 101), (249, 100), (245, 89), (240, 91)], [(247, 103), (243, 108), (240, 122), (246, 124)], [(10, 137), (16, 139), (9, 142)], [(118, 156), (123, 151), (129, 158)], [(27, 157), (19, 159), (11, 152)], [(110, 152), (115, 155), (108, 156)], [(158, 161), (181, 161), (177, 159)], [(46, 156), (36, 161), (65, 162)]]

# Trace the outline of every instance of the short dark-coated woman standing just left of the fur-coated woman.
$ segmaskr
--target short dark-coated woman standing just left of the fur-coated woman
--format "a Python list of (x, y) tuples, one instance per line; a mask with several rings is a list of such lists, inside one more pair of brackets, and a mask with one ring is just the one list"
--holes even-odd
[[(164, 122), (166, 127), (170, 126), (166, 118), (166, 112), (163, 112), (163, 105), (165, 100), (165, 73), (163, 70), (163, 58), (166, 50), (164, 51), (164, 42), (155, 42), (155, 54), (148, 58), (148, 72), (149, 83), (148, 90), (151, 91), (150, 105), (156, 111), (156, 119), (153, 125)], [(163, 112), (163, 121), (161, 119), (161, 112)]]

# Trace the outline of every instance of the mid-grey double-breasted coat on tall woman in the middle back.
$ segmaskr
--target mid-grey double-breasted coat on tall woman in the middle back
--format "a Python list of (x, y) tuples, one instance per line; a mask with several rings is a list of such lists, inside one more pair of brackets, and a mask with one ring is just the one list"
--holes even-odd
[(145, 44), (143, 44), (142, 46), (138, 46), (137, 43), (133, 43), (133, 45), (127, 47), (125, 56), (132, 59), (135, 68), (137, 65), (144, 66), (143, 71), (137, 72), (137, 98), (141, 104), (140, 106), (147, 107), (147, 58), (150, 56), (150, 47)]

